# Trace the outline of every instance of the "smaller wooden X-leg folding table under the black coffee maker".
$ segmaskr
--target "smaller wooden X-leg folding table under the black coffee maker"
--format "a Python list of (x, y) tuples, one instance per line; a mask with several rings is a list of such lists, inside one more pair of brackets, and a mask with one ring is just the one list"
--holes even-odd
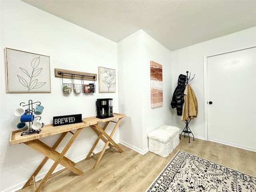
[[(102, 156), (103, 156), (103, 154), (106, 151), (106, 148), (108, 146), (110, 146), (110, 147), (114, 146), (118, 149), (118, 151), (120, 153), (123, 152), (123, 150), (116, 144), (116, 142), (114, 142), (114, 140), (112, 139), (112, 136), (114, 135), (116, 129), (118, 128), (118, 125), (119, 125), (121, 119), (124, 118), (125, 116), (126, 115), (114, 113), (114, 117), (105, 118), (105, 119), (99, 119), (99, 118), (96, 118), (96, 117), (90, 117), (90, 118), (83, 118), (82, 119), (83, 122), (88, 123), (90, 125), (90, 127), (96, 132), (96, 134), (98, 134), (98, 138), (94, 142), (94, 145), (92, 146), (92, 148), (91, 148), (90, 152), (88, 153), (86, 159), (88, 159), (91, 156), (91, 154), (94, 154), (93, 150), (96, 147), (96, 145), (98, 144), (100, 139), (102, 139), (104, 142), (106, 142), (104, 148), (102, 149), (102, 152), (100, 152), (100, 155), (98, 156), (98, 159), (97, 159), (97, 161), (94, 165), (94, 168), (96, 166), (98, 166), (98, 164), (100, 163), (100, 160), (101, 160), (101, 158), (102, 158)], [(113, 121), (113, 120), (116, 120), (116, 119), (118, 119), (117, 122)], [(106, 122), (106, 124), (102, 128), (99, 124), (104, 123), (104, 122)], [(107, 128), (107, 126), (110, 122), (114, 122), (114, 123), (116, 123), (116, 125), (114, 126), (111, 134), (108, 135), (105, 132), (105, 130), (106, 130), (106, 128)]]

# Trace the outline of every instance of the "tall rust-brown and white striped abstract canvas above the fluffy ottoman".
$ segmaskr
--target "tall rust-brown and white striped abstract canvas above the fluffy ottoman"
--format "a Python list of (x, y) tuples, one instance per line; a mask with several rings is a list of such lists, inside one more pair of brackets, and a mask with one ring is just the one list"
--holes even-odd
[(163, 106), (163, 68), (150, 61), (151, 108)]

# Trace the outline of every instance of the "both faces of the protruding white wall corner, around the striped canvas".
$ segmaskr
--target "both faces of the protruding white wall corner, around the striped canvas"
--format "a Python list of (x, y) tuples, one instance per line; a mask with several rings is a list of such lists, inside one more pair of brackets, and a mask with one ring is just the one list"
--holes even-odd
[[(151, 108), (150, 61), (163, 66), (164, 105)], [(120, 143), (144, 154), (147, 133), (162, 124), (172, 125), (171, 52), (143, 30), (118, 42), (119, 109), (127, 115), (120, 125)]]

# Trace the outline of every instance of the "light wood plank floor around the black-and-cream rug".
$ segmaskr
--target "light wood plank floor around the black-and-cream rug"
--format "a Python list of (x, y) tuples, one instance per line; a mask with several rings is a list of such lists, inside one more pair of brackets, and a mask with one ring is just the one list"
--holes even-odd
[[(67, 169), (58, 172), (47, 180), (41, 192), (144, 192), (178, 150), (256, 176), (256, 152), (210, 141), (195, 139), (188, 143), (188, 137), (182, 136), (180, 144), (167, 158), (151, 152), (141, 155), (118, 145), (123, 153), (116, 148), (108, 150), (94, 169), (95, 156), (82, 160), (76, 167), (84, 174), (77, 176)], [(32, 185), (18, 190), (33, 191)]]

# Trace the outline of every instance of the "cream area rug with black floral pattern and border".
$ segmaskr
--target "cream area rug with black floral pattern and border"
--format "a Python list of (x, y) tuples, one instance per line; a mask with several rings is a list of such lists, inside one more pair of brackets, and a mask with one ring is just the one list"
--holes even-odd
[(256, 192), (256, 177), (178, 151), (146, 192)]

